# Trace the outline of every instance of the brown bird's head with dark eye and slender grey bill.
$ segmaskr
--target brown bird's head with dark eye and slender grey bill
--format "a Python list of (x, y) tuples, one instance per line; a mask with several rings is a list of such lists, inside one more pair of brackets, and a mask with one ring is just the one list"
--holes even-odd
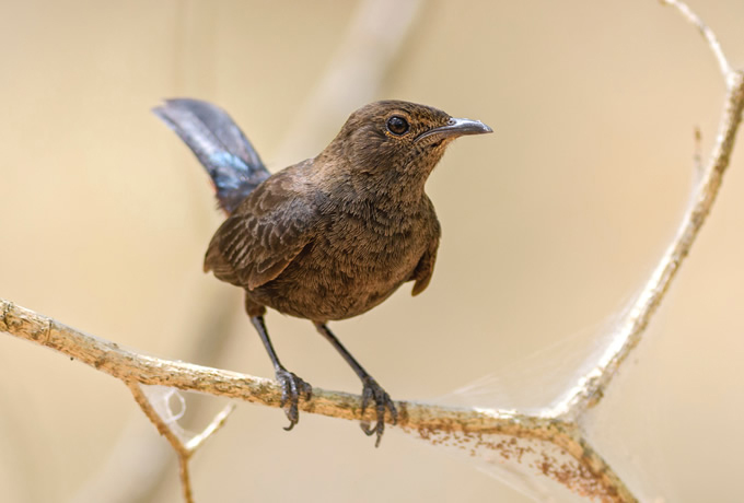
[(375, 102), (349, 116), (324, 154), (346, 160), (346, 168), (387, 179), (426, 182), (452, 140), (492, 129), (426, 105)]

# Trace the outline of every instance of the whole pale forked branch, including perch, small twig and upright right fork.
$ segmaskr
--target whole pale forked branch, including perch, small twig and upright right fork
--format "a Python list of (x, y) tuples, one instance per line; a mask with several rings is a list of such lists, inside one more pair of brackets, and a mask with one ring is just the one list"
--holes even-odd
[[(595, 367), (583, 375), (555, 408), (536, 414), (510, 410), (466, 409), (399, 401), (398, 426), (435, 445), (452, 445), (470, 454), (486, 451), (497, 461), (511, 463), (525, 477), (543, 476), (577, 494), (603, 502), (636, 502), (636, 498), (612, 467), (583, 436), (580, 420), (598, 403), (638, 344), (672, 280), (689, 254), (693, 243), (716, 200), (729, 165), (735, 134), (744, 109), (744, 72), (733, 71), (712, 32), (687, 5), (676, 7), (704, 34), (726, 80), (723, 117), (716, 145), (702, 178), (691, 196), (677, 235), (647, 281), (636, 303), (618, 325), (612, 343)], [(7, 331), (77, 359), (127, 384), (136, 400), (178, 454), (182, 486), (193, 501), (187, 461), (199, 445), (223, 423), (223, 411), (204, 433), (184, 443), (144, 396), (142, 385), (162, 385), (213, 396), (239, 398), (280, 407), (281, 389), (272, 381), (189, 363), (162, 360), (125, 350), (114, 342), (67, 327), (51, 318), (0, 300), (0, 331)], [(305, 412), (359, 420), (361, 398), (356, 395), (313, 389), (311, 400), (301, 400)], [(372, 414), (368, 411), (368, 414)], [(372, 419), (372, 418), (369, 418)]]

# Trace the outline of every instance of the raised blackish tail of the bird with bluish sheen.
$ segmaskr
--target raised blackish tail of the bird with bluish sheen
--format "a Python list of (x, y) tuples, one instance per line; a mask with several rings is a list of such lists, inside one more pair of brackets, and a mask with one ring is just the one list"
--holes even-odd
[(165, 100), (152, 112), (196, 154), (212, 179), (220, 207), (228, 214), (270, 176), (243, 131), (211, 103)]

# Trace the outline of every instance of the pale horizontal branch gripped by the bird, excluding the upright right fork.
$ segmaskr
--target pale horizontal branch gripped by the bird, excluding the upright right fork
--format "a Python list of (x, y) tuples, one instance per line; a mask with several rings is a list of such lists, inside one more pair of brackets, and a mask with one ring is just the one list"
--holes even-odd
[[(163, 428), (162, 419), (150, 402), (142, 400), (140, 385), (170, 386), (280, 407), (281, 388), (274, 381), (139, 354), (1, 299), (0, 312), (0, 331), (51, 348), (127, 383), (144, 412), (178, 453), (185, 482), (188, 472), (184, 467), (190, 454), (171, 429)], [(361, 397), (313, 388), (313, 398), (301, 400), (300, 408), (304, 412), (359, 420)], [(636, 501), (609, 465), (570, 422), (509, 410), (465, 409), (414, 401), (398, 401), (396, 408), (398, 426), (404, 432), (435, 445), (453, 445), (472, 453), (487, 448), (503, 461), (521, 464), (531, 476), (548, 477), (579, 494), (602, 501)], [(368, 410), (367, 414), (373, 420), (373, 411)], [(550, 446), (550, 455), (545, 454), (545, 445)], [(187, 488), (184, 483), (185, 495), (189, 498)]]

